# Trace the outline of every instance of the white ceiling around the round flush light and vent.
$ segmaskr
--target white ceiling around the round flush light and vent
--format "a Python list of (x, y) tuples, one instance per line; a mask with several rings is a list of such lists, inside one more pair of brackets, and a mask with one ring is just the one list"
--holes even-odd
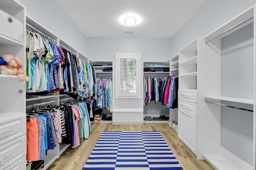
[[(205, 1), (56, 0), (86, 37), (173, 37)], [(131, 14), (137, 24), (124, 25)]]

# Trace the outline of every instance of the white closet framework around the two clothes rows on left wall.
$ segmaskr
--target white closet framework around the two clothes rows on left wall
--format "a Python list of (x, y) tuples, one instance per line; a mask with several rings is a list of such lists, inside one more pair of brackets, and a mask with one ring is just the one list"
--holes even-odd
[[(81, 59), (84, 59), (85, 61), (89, 62), (89, 59), (80, 53), (78, 50), (70, 46), (68, 43), (60, 39), (58, 36), (56, 36), (54, 33), (46, 29), (43, 25), (38, 23), (37, 21), (33, 20), (29, 16), (26, 16), (26, 23), (31, 25), (32, 27), (35, 27), (45, 35), (49, 36), (50, 38), (54, 39), (56, 41), (55, 45), (62, 45), (70, 50), (70, 52), (73, 52), (76, 56), (80, 57)], [(26, 29), (26, 27), (25, 27)], [(59, 104), (60, 99), (68, 98), (68, 94), (60, 94), (60, 92), (55, 92), (56, 95), (53, 96), (40, 96), (38, 98), (28, 98), (24, 99), (26, 101), (26, 105), (36, 104), (36, 103), (42, 103), (42, 102), (48, 102), (52, 100), (56, 100), (56, 105)], [(60, 154), (64, 152), (70, 145), (64, 145), (59, 144), (57, 145), (53, 150), (48, 150), (47, 155), (40, 158), (40, 160), (44, 160), (44, 168), (42, 170), (46, 170), (57, 158), (60, 157)]]

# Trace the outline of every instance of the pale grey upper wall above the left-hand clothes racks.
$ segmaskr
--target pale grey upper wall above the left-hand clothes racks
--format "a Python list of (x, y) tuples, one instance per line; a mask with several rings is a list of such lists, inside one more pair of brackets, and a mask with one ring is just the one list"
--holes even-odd
[(55, 0), (20, 0), (26, 14), (87, 56), (86, 36)]

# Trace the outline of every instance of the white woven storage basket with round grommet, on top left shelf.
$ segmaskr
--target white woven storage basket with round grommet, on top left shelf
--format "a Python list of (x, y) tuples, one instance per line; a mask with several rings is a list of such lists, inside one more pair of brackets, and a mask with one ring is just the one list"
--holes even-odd
[(0, 34), (16, 41), (23, 42), (22, 22), (0, 10)]

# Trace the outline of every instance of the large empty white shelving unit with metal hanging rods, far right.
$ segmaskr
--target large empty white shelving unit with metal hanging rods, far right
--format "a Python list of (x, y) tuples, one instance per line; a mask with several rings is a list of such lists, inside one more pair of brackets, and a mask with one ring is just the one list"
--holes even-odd
[[(202, 81), (198, 82), (197, 158), (219, 170), (256, 169), (255, 11), (256, 6), (252, 6), (204, 37), (204, 67), (198, 68)], [(238, 122), (244, 122), (242, 128), (230, 128)]]

